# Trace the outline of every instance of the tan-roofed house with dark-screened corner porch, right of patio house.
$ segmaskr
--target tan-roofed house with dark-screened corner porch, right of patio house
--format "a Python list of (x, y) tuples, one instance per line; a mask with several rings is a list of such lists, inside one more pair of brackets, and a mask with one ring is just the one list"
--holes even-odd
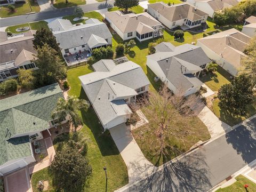
[(105, 13), (105, 19), (124, 41), (136, 37), (141, 42), (163, 36), (164, 27), (161, 22), (148, 13), (123, 14), (121, 11), (113, 11)]

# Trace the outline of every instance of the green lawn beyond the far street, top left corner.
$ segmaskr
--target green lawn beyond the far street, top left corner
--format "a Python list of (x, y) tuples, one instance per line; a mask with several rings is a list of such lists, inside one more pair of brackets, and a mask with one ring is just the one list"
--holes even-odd
[(17, 3), (13, 5), (15, 6), (14, 12), (10, 12), (9, 9), (7, 9), (7, 6), (1, 6), (0, 17), (13, 17), (17, 15), (27, 14), (30, 12), (40, 11), (39, 5), (36, 2), (33, 2), (33, 0), (26, 1), (26, 3)]

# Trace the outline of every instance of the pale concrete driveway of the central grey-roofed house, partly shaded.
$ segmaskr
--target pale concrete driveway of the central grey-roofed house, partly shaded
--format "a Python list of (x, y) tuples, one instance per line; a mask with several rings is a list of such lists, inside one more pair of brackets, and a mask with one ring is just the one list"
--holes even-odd
[(157, 169), (142, 154), (129, 127), (120, 124), (109, 129), (109, 131), (127, 166), (129, 183), (139, 181)]

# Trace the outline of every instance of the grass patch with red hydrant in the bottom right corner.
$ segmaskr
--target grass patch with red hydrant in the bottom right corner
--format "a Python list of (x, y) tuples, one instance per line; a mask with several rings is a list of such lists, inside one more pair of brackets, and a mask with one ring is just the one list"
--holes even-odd
[[(247, 179), (243, 175), (238, 175), (236, 178), (236, 182), (232, 185), (220, 188), (216, 192), (253, 192), (256, 191), (256, 183), (252, 182), (251, 180)], [(247, 190), (244, 188), (244, 185), (248, 184), (249, 187)]]

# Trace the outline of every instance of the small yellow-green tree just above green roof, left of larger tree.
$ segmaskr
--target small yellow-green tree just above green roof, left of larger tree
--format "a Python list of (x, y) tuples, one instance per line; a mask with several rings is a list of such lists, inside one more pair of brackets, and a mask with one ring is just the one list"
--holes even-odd
[(21, 87), (25, 89), (33, 89), (35, 83), (35, 77), (33, 76), (33, 71), (28, 69), (18, 69), (18, 81)]

